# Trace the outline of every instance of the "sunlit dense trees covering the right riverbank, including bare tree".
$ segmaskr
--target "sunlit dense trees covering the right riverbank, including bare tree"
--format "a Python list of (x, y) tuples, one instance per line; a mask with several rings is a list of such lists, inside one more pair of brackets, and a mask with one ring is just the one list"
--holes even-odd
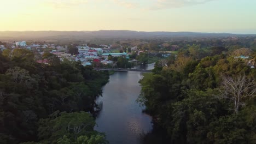
[(156, 63), (139, 81), (138, 101), (171, 143), (256, 143), (256, 53), (215, 47), (201, 57), (203, 51), (190, 45)]

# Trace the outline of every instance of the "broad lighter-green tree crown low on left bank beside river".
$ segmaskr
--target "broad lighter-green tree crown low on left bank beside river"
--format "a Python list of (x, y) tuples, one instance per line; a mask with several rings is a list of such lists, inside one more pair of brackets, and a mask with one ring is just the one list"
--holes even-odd
[(73, 113), (62, 112), (54, 119), (40, 119), (39, 137), (54, 142), (66, 135), (69, 139), (77, 140), (77, 137), (88, 135), (94, 130), (95, 121), (89, 113), (80, 111)]

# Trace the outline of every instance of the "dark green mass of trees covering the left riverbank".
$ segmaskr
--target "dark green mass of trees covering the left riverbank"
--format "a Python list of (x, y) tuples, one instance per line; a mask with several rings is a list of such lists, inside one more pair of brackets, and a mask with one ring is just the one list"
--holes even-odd
[(96, 97), (109, 74), (29, 50), (0, 54), (0, 143), (106, 143), (94, 130)]

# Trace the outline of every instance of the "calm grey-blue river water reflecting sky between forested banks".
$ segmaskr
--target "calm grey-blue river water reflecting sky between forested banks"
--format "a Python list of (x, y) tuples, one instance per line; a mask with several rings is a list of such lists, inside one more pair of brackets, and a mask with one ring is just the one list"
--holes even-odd
[[(153, 69), (149, 64), (141, 69)], [(138, 67), (137, 67), (138, 68)], [(142, 79), (138, 71), (116, 72), (110, 75), (109, 82), (103, 87), (102, 110), (96, 118), (95, 130), (107, 135), (110, 144), (145, 143), (145, 137), (152, 131), (152, 117), (142, 112), (143, 106), (136, 103), (141, 92), (138, 81)]]

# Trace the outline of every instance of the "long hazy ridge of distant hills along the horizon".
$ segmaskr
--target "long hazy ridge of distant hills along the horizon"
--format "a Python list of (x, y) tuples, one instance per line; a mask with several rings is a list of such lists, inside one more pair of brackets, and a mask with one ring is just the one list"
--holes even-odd
[(4, 31), (0, 40), (91, 40), (99, 39), (148, 39), (159, 37), (230, 37), (231, 33), (196, 33), (196, 32), (137, 32), (125, 30), (101, 31)]

